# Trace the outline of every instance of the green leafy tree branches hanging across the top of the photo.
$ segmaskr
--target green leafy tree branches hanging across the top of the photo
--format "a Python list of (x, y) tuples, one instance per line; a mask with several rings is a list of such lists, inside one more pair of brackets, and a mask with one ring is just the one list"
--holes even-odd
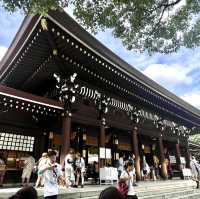
[(107, 28), (127, 49), (171, 53), (200, 45), (199, 0), (1, 0), (13, 12), (46, 14), (72, 6), (81, 25), (97, 33)]

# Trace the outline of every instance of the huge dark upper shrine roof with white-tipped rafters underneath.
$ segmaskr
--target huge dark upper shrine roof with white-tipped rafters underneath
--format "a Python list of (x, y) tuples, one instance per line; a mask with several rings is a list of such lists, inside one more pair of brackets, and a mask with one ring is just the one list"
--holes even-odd
[[(53, 73), (77, 72), (80, 80), (167, 117), (200, 125), (200, 111), (115, 55), (65, 12), (51, 11), (48, 33), (39, 16), (24, 19), (0, 63), (0, 83), (37, 95), (51, 91)], [(52, 54), (53, 48), (58, 56)]]

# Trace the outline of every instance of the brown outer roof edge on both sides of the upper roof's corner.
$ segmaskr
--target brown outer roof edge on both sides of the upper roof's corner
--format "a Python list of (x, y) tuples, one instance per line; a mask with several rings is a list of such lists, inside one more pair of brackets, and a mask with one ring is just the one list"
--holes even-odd
[[(67, 33), (69, 33), (72, 37), (81, 42), (84, 46), (98, 54), (98, 56), (100, 56), (102, 59), (110, 62), (117, 69), (126, 73), (131, 78), (138, 80), (143, 85), (153, 90), (155, 93), (167, 98), (168, 100), (183, 107), (192, 114), (200, 117), (200, 110), (185, 102), (181, 98), (177, 97), (175, 94), (160, 86), (155, 81), (151, 80), (143, 73), (135, 69), (133, 66), (122, 60), (119, 56), (114, 54), (111, 50), (109, 50), (106, 46), (104, 46), (96, 38), (89, 34), (85, 29), (83, 29), (64, 11), (50, 11), (48, 18), (64, 31), (67, 31)], [(16, 34), (6, 55), (3, 57), (0, 63), (0, 81), (2, 80), (1, 78), (4, 73), (6, 73), (7, 69), (10, 67), (15, 56), (20, 53), (20, 50), (26, 43), (28, 37), (31, 35), (39, 20), (39, 16), (25, 17), (18, 33)]]

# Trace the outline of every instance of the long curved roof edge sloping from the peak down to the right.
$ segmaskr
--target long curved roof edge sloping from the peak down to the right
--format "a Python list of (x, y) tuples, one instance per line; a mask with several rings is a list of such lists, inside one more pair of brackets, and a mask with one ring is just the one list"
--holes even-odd
[(185, 102), (181, 98), (177, 97), (175, 94), (171, 93), (164, 87), (160, 86), (158, 83), (135, 69), (133, 66), (128, 64), (126, 61), (121, 59), (110, 49), (104, 46), (99, 42), (95, 37), (89, 34), (85, 29), (83, 29), (74, 19), (72, 19), (65, 12), (51, 11), (48, 15), (48, 18), (56, 23), (60, 28), (65, 31), (70, 32), (73, 37), (78, 39), (86, 47), (90, 47), (93, 51), (100, 54), (102, 58), (110, 60), (112, 64), (117, 67), (119, 70), (126, 72), (130, 77), (137, 79), (143, 85), (152, 89), (154, 92), (160, 94), (161, 96), (167, 98), (170, 101), (180, 105), (189, 112), (200, 117), (200, 110), (193, 107), (189, 103)]

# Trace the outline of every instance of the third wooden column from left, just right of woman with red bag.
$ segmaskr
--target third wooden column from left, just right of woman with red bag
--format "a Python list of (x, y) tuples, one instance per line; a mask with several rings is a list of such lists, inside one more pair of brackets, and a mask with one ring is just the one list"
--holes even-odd
[(138, 137), (137, 137), (137, 127), (133, 129), (132, 133), (132, 144), (133, 151), (135, 154), (135, 171), (136, 171), (136, 179), (141, 180), (141, 172), (140, 172), (140, 155), (138, 150)]

